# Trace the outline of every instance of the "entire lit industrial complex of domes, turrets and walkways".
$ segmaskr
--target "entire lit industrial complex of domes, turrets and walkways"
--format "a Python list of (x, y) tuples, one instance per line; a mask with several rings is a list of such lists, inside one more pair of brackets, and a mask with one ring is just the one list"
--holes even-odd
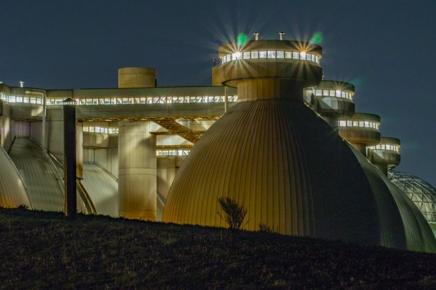
[(121, 68), (118, 88), (0, 84), (0, 205), (62, 211), (72, 98), (84, 213), (225, 226), (217, 198), (230, 196), (245, 229), (436, 251), (434, 188), (424, 218), (388, 180), (399, 139), (355, 112), (352, 84), (321, 80), (321, 58), (313, 43), (255, 40), (219, 48), (214, 86), (158, 88), (152, 68)]

